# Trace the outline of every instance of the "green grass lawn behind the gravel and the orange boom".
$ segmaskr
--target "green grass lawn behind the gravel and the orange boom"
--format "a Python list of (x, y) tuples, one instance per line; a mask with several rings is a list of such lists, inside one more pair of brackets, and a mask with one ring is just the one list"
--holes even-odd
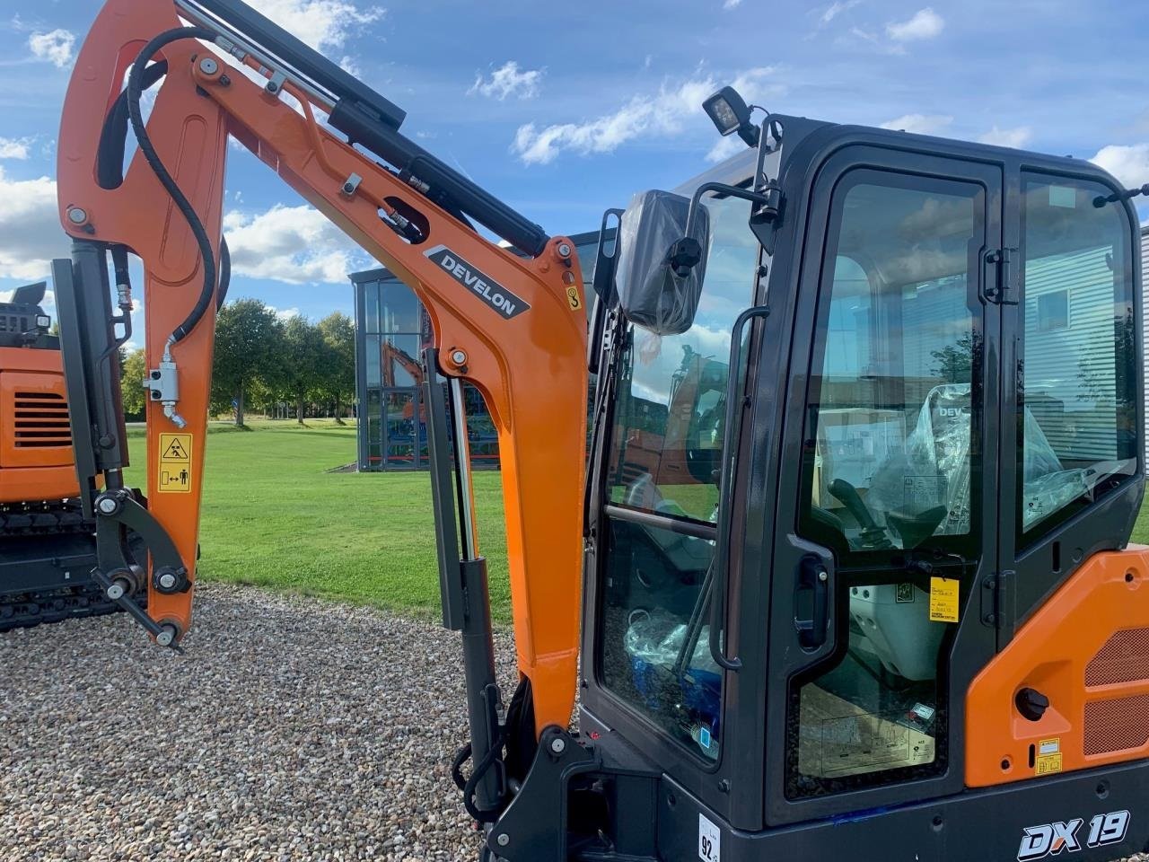
[[(211, 426), (200, 525), (205, 579), (288, 590), (416, 614), (439, 613), (426, 472), (326, 472), (355, 461), (355, 428), (332, 421)], [(142, 429), (128, 480), (144, 486)], [(491, 605), (510, 619), (500, 474), (475, 474)]]

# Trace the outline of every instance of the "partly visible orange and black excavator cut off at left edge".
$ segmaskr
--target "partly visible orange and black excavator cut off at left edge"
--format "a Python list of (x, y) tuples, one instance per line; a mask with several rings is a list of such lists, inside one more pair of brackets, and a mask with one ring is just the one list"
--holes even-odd
[(0, 302), (0, 631), (117, 610), (90, 577), (95, 524), (80, 510), (46, 287)]

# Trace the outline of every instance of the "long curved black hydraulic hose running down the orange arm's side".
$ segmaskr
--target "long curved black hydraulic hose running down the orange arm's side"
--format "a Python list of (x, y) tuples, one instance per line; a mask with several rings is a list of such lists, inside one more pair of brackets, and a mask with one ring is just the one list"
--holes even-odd
[(216, 34), (214, 32), (201, 26), (182, 26), (162, 32), (144, 46), (139, 56), (136, 57), (136, 62), (132, 63), (131, 72), (128, 75), (128, 117), (131, 121), (136, 140), (139, 143), (140, 153), (152, 168), (156, 179), (160, 180), (160, 184), (171, 195), (176, 207), (187, 221), (187, 225), (192, 229), (192, 234), (195, 237), (195, 244), (200, 248), (200, 260), (203, 262), (203, 286), (200, 288), (200, 295), (195, 300), (195, 306), (188, 313), (187, 317), (184, 318), (184, 322), (176, 326), (171, 336), (168, 337), (169, 344), (177, 344), (184, 340), (195, 329), (203, 314), (210, 307), (211, 298), (216, 292), (216, 264), (211, 254), (211, 240), (208, 239), (203, 222), (200, 221), (191, 201), (179, 190), (179, 185), (163, 166), (160, 155), (152, 145), (147, 129), (144, 126), (144, 115), (140, 110), (140, 95), (144, 92), (144, 71), (147, 68), (148, 60), (161, 48), (173, 41), (180, 39), (215, 41), (215, 38)]

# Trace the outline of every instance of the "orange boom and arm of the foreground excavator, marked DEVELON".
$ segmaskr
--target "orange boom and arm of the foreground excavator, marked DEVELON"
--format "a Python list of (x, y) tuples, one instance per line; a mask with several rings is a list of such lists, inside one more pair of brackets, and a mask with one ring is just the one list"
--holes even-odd
[[(60, 132), (64, 230), (77, 239), (122, 243), (142, 259), (149, 368), (194, 305), (201, 262), (187, 224), (139, 153), (118, 188), (101, 188), (92, 141), (140, 48), (178, 25), (169, 0), (109, 0), (79, 53)], [(205, 72), (195, 61), (208, 51), (193, 40), (163, 49), (168, 75), (148, 121), (156, 152), (213, 245), (221, 233), (230, 133), (416, 292), (431, 317), (445, 370), (481, 392), (498, 429), (518, 665), (532, 682), (537, 728), (566, 726), (578, 655), (587, 386), (583, 279), (578, 259), (558, 252), (569, 240), (554, 238), (539, 257), (517, 257), (330, 133), (316, 122), (308, 97), (291, 84), (283, 87), (285, 98), (278, 98), (284, 93), (268, 93), (226, 63)], [(345, 195), (344, 183), (353, 175), (361, 183)], [(67, 217), (74, 207), (87, 214), (86, 224)], [(408, 244), (380, 220), (380, 210), (396, 209), (423, 222), (424, 243)], [(439, 246), (506, 285), (529, 309), (509, 320), (498, 314), (427, 256)], [(157, 486), (161, 434), (178, 429), (159, 405), (147, 408), (153, 468), (148, 508), (190, 571), (199, 530), (213, 330), (209, 311), (171, 349), (180, 375), (178, 409), (191, 434), (190, 493)], [(452, 356), (463, 361), (446, 362)], [(191, 595), (153, 592), (148, 613), (186, 631)]]

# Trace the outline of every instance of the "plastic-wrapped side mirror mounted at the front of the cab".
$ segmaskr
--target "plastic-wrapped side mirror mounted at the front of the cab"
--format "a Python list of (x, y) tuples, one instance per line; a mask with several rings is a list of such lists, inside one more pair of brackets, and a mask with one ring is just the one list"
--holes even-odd
[(702, 260), (685, 277), (670, 264), (670, 249), (686, 237), (691, 201), (670, 192), (640, 192), (618, 228), (618, 301), (631, 323), (660, 336), (677, 336), (694, 323), (710, 252), (710, 214), (699, 207), (693, 239)]

